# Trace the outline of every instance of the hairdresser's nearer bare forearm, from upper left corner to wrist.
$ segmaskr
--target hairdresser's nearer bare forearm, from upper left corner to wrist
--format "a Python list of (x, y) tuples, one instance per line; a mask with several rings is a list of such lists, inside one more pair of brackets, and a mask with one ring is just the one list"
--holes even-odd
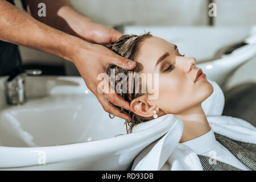
[[(10, 3), (0, 0), (0, 40), (52, 53), (72, 61), (75, 47), (89, 43), (38, 22)], [(82, 42), (82, 43), (81, 43)]]

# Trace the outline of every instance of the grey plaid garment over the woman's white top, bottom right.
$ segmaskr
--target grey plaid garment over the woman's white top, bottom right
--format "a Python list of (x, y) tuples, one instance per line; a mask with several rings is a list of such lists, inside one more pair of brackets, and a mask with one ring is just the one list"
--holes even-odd
[[(249, 167), (251, 170), (256, 170), (256, 144), (245, 143), (237, 140), (232, 140), (223, 135), (214, 133), (215, 138), (222, 146), (226, 147), (238, 160)], [(216, 163), (212, 162), (212, 159), (207, 156), (198, 155), (204, 171), (241, 171), (236, 167), (216, 160)]]

